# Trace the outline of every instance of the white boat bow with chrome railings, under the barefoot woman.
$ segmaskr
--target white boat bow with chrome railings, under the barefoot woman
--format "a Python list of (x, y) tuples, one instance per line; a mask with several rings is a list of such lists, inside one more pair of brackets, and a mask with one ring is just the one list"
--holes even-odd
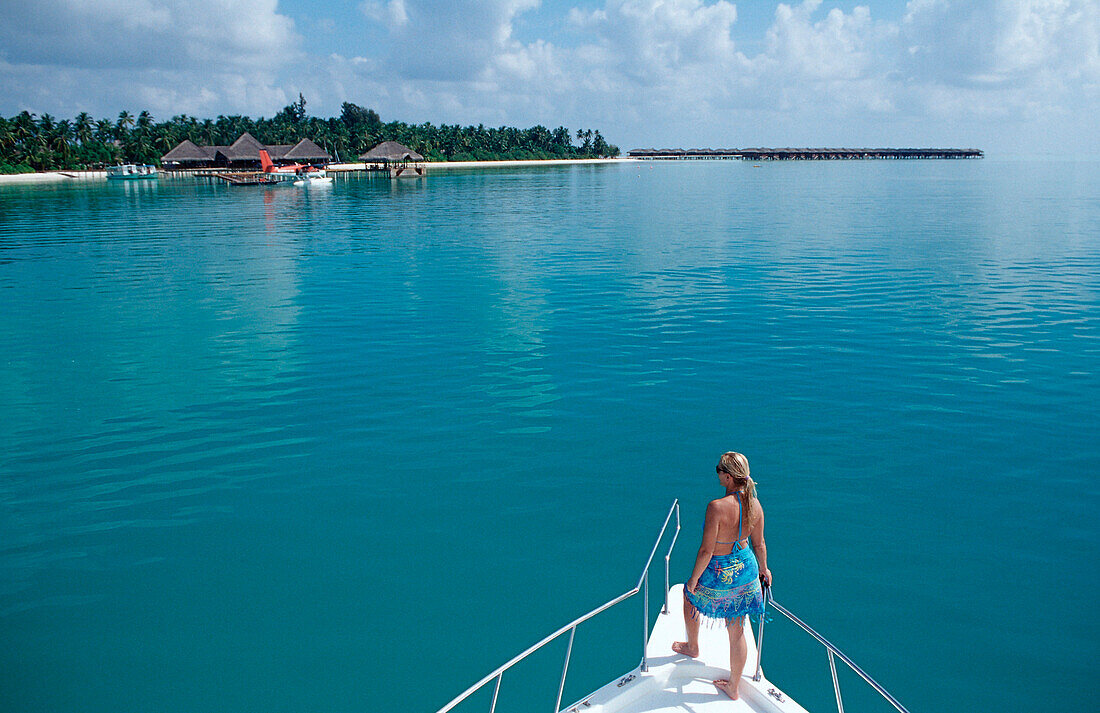
[[(664, 606), (658, 614), (652, 629), (649, 627), (649, 569), (653, 563), (653, 556), (657, 553), (669, 524), (675, 515), (675, 531), (671, 536), (669, 550), (664, 556)], [(569, 634), (569, 646), (565, 649), (565, 662), (562, 667), (561, 683), (558, 687), (558, 701), (554, 703), (554, 711), (560, 713), (672, 713), (674, 711), (690, 711), (691, 713), (732, 713), (732, 712), (754, 712), (754, 713), (806, 713), (805, 709), (782, 691), (776, 683), (769, 681), (763, 676), (761, 651), (763, 643), (765, 621), (767, 616), (759, 619), (757, 634), (754, 636), (751, 627), (746, 622), (745, 638), (748, 644), (748, 658), (745, 662), (745, 670), (740, 671), (740, 683), (738, 685), (739, 700), (732, 701), (711, 682), (715, 679), (728, 678), (729, 674), (729, 638), (722, 628), (708, 629), (701, 627), (700, 630), (700, 655), (696, 658), (688, 658), (672, 651), (672, 643), (684, 639), (683, 611), (680, 605), (683, 584), (669, 586), (669, 558), (675, 547), (676, 538), (680, 535), (680, 502), (673, 502), (664, 518), (653, 542), (653, 549), (649, 553), (649, 560), (642, 569), (638, 584), (631, 590), (616, 596), (612, 601), (597, 606), (587, 614), (573, 619), (565, 626), (546, 637), (522, 651), (507, 663), (501, 666), (492, 673), (477, 681), (469, 689), (459, 694), (450, 703), (439, 710), (438, 713), (448, 713), (457, 707), (468, 698), (493, 683), (493, 703), (490, 713), (495, 713), (497, 695), (501, 692), (501, 684), (504, 673), (519, 661), (539, 650), (547, 644)], [(587, 619), (596, 616), (601, 612), (625, 602), (626, 600), (642, 594), (642, 655), (641, 662), (631, 671), (613, 679), (603, 688), (585, 695), (572, 705), (561, 706), (562, 691), (565, 688), (565, 678), (569, 673), (569, 660), (573, 651), (573, 637), (576, 627)], [(789, 612), (771, 597), (770, 588), (765, 588), (765, 603), (772, 612), (782, 614), (810, 636), (816, 639), (828, 654), (829, 670), (833, 674), (833, 690), (836, 693), (837, 711), (844, 713), (844, 701), (840, 695), (840, 685), (836, 678), (836, 659), (840, 659), (853, 671), (855, 671), (871, 688), (878, 691), (900, 713), (909, 713), (893, 695), (877, 683), (871, 677), (864, 672), (856, 663), (821, 634), (812, 629), (798, 616)], [(522, 682), (518, 683), (522, 685)], [(549, 701), (547, 701), (549, 705)], [(541, 707), (535, 702), (527, 706), (530, 710)]]

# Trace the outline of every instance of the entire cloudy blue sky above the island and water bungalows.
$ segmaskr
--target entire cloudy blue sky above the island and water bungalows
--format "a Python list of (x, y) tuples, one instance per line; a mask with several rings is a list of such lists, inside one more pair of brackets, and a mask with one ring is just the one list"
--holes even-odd
[(1100, 0), (0, 0), (0, 113), (1100, 157)]

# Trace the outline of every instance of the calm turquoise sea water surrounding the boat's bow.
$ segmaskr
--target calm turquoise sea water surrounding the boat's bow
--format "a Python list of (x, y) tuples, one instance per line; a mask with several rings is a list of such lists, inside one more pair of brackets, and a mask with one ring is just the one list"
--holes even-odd
[[(729, 449), (777, 600), (912, 711), (1093, 710), (1098, 308), (1087, 163), (0, 186), (0, 710), (433, 711), (675, 497), (682, 580)], [(637, 663), (623, 606), (566, 700)]]

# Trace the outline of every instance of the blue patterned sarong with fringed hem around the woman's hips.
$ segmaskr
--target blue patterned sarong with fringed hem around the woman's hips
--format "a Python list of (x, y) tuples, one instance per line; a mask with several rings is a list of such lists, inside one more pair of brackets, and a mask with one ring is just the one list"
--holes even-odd
[(695, 593), (684, 589), (693, 616), (708, 624), (729, 624), (746, 614), (763, 614), (763, 593), (756, 555), (748, 547), (711, 558)]

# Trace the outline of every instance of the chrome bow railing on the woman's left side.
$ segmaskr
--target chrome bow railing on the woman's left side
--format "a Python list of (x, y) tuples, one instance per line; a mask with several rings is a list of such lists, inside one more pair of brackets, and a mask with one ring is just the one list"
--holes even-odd
[(559, 636), (561, 636), (562, 634), (564, 634), (565, 632), (569, 632), (569, 646), (565, 648), (565, 663), (562, 666), (562, 669), (561, 669), (561, 683), (558, 685), (558, 700), (554, 703), (554, 707), (553, 707), (553, 713), (558, 713), (558, 711), (561, 710), (561, 694), (562, 694), (562, 691), (565, 690), (565, 674), (569, 673), (569, 659), (570, 659), (570, 656), (573, 652), (573, 638), (576, 635), (576, 627), (580, 626), (581, 624), (587, 622), (590, 618), (592, 618), (596, 614), (600, 614), (601, 612), (605, 612), (605, 611), (609, 610), (610, 607), (615, 606), (616, 604), (618, 604), (619, 602), (624, 602), (624, 601), (630, 599), (631, 596), (634, 596), (635, 594), (637, 594), (639, 591), (642, 592), (642, 607), (641, 607), (641, 613), (642, 613), (641, 663), (639, 665), (639, 669), (642, 670), (642, 671), (648, 671), (649, 670), (649, 665), (646, 661), (646, 646), (649, 644), (649, 568), (653, 563), (653, 556), (657, 555), (657, 548), (660, 547), (661, 540), (664, 539), (664, 533), (669, 528), (669, 523), (672, 520), (673, 513), (676, 516), (676, 529), (675, 529), (675, 533), (672, 535), (672, 541), (669, 544), (669, 551), (666, 552), (666, 555), (664, 555), (664, 607), (661, 611), (662, 611), (662, 613), (667, 614), (668, 611), (669, 611), (669, 558), (672, 557), (672, 548), (674, 548), (676, 546), (676, 538), (680, 537), (680, 501), (679, 500), (672, 501), (672, 507), (669, 508), (669, 514), (664, 517), (664, 524), (661, 525), (661, 531), (657, 534), (657, 540), (653, 542), (653, 549), (650, 550), (650, 552), (649, 552), (649, 559), (646, 560), (646, 567), (642, 568), (642, 570), (641, 570), (641, 577), (638, 578), (638, 584), (634, 589), (631, 589), (628, 592), (624, 592), (623, 594), (619, 594), (618, 596), (616, 596), (615, 599), (610, 600), (606, 604), (602, 604), (602, 605), (597, 606), (596, 608), (592, 610), (591, 612), (588, 612), (584, 616), (581, 616), (579, 618), (573, 619), (572, 622), (570, 622), (565, 626), (561, 627), (560, 629), (558, 629), (557, 632), (554, 632), (550, 636), (547, 636), (546, 638), (543, 638), (538, 644), (531, 646), (530, 648), (526, 649), (521, 654), (515, 656), (514, 658), (512, 658), (510, 660), (508, 660), (507, 663), (504, 663), (503, 666), (498, 667), (492, 673), (490, 673), (488, 676), (486, 676), (482, 680), (477, 681), (476, 683), (474, 683), (473, 685), (471, 685), (470, 688), (468, 688), (465, 691), (463, 691), (461, 694), (459, 694), (458, 698), (455, 698), (454, 700), (452, 700), (450, 703), (448, 703), (443, 707), (439, 709), (438, 713), (447, 713), (448, 711), (450, 711), (454, 706), (457, 706), (459, 703), (462, 703), (464, 700), (466, 700), (468, 698), (470, 698), (471, 695), (473, 695), (474, 693), (476, 693), (486, 683), (488, 683), (493, 679), (496, 679), (496, 685), (493, 688), (493, 703), (490, 705), (490, 709), (488, 709), (490, 713), (495, 713), (495, 711), (496, 711), (496, 699), (497, 699), (497, 695), (501, 693), (501, 680), (504, 678), (504, 672), (507, 671), (508, 669), (510, 669), (516, 663), (519, 663), (525, 658), (527, 658), (528, 656), (530, 656), (535, 651), (539, 650), (540, 648), (542, 648), (543, 646), (546, 646), (550, 641), (554, 640), (556, 638), (558, 638)]

